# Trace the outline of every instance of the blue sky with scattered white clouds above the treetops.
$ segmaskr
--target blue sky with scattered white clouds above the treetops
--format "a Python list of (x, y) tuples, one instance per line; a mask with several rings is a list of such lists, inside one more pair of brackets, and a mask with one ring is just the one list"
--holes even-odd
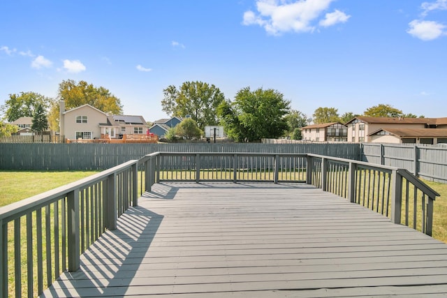
[(0, 2), (0, 105), (85, 80), (125, 114), (166, 117), (163, 89), (276, 89), (312, 117), (386, 103), (447, 117), (447, 0)]

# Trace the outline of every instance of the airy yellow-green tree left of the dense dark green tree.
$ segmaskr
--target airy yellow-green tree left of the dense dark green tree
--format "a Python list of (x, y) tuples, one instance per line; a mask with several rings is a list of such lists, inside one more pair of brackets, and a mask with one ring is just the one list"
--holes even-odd
[(197, 122), (200, 129), (206, 125), (216, 125), (217, 107), (225, 100), (225, 96), (214, 84), (204, 82), (184, 82), (177, 89), (170, 85), (163, 89), (161, 100), (162, 110), (170, 115), (191, 118)]

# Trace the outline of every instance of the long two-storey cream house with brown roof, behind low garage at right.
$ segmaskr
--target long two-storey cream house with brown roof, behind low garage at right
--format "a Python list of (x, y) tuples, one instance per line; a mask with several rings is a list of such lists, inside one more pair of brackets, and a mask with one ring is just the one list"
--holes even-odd
[[(393, 137), (379, 137), (383, 135), (394, 135), (395, 137), (402, 137), (402, 142), (411, 142), (410, 139), (415, 139), (418, 142), (418, 137), (425, 137), (428, 139), (443, 138), (441, 131), (434, 133), (438, 135), (435, 137), (430, 130), (447, 128), (447, 118), (404, 118), (404, 117), (364, 117), (358, 116), (348, 123), (348, 142), (377, 142), (377, 140), (392, 140)], [(414, 131), (422, 129), (423, 131)], [(394, 131), (393, 131), (394, 130)], [(399, 130), (399, 131), (395, 131)], [(408, 131), (406, 131), (408, 130)], [(412, 131), (413, 130), (413, 131)], [(389, 134), (387, 134), (389, 133)], [(426, 135), (424, 135), (426, 133)], [(413, 135), (411, 135), (413, 134)], [(430, 136), (431, 135), (431, 136)], [(447, 137), (447, 135), (444, 135)], [(407, 140), (403, 140), (407, 139)], [(397, 142), (397, 139), (393, 142)], [(423, 142), (436, 143), (435, 140), (423, 140)]]

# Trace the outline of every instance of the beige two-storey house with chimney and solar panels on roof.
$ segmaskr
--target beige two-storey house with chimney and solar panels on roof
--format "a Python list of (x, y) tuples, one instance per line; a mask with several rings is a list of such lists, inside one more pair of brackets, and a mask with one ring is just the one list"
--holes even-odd
[(91, 105), (66, 111), (61, 100), (60, 117), (61, 135), (66, 140), (122, 140), (125, 135), (149, 135), (142, 116), (108, 115)]

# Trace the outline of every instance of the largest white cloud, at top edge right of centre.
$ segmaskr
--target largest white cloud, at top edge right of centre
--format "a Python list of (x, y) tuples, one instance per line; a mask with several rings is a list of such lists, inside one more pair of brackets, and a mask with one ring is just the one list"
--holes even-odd
[[(258, 0), (256, 9), (258, 13), (247, 10), (244, 13), (242, 24), (261, 26), (272, 35), (284, 32), (312, 32), (315, 30), (315, 22), (320, 15), (329, 8), (335, 0)], [(334, 13), (325, 15), (320, 25), (329, 27), (339, 22), (346, 22), (349, 15), (335, 10)]]

